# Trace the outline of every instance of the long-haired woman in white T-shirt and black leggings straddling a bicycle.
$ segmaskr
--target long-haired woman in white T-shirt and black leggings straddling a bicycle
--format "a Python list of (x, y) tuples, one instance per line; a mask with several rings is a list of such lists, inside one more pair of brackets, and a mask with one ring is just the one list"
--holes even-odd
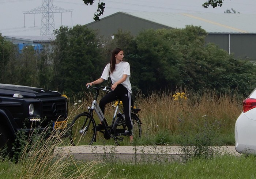
[[(112, 51), (110, 63), (106, 65), (101, 77), (88, 85), (100, 84), (104, 80), (108, 80), (110, 77), (112, 81), (112, 91), (106, 94), (99, 102), (101, 111), (105, 112), (105, 105), (111, 103), (117, 99), (123, 102), (124, 116), (126, 125), (128, 127), (128, 136), (130, 136), (130, 142), (133, 142), (132, 136), (132, 120), (131, 120), (131, 93), (132, 86), (130, 83), (130, 65), (128, 62), (123, 61), (124, 52), (120, 48), (116, 48)], [(103, 126), (99, 124), (97, 129), (102, 129)]]

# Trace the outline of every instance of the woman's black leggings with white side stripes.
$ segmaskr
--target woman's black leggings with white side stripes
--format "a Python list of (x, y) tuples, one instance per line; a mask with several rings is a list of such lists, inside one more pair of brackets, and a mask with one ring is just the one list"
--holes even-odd
[(99, 107), (103, 114), (105, 114), (105, 105), (120, 99), (124, 107), (124, 116), (129, 133), (132, 134), (132, 120), (131, 120), (131, 93), (122, 84), (118, 84), (114, 91), (106, 94), (100, 101)]

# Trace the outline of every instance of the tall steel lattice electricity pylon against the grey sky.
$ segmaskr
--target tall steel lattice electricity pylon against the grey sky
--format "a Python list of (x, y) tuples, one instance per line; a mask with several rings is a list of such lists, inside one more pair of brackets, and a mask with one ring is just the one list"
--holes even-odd
[[(53, 0), (43, 0), (43, 5), (31, 9), (30, 11), (23, 11), (24, 14), (24, 26), (25, 26), (25, 14), (42, 14), (41, 20), (41, 31), (40, 35), (53, 35), (53, 31), (55, 30), (54, 24), (54, 16), (53, 13), (62, 13), (62, 12), (72, 12), (73, 9), (63, 9), (61, 7), (57, 7), (53, 5)], [(34, 20), (35, 23), (35, 20)], [(61, 14), (61, 24), (62, 24), (62, 14)]]

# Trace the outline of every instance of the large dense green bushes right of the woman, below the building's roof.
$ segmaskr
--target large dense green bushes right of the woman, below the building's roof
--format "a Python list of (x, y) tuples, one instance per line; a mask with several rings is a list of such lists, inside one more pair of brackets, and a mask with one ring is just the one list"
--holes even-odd
[(255, 88), (256, 66), (234, 59), (213, 43), (205, 45), (206, 35), (205, 30), (195, 26), (144, 30), (135, 39), (118, 31), (110, 43), (121, 46), (120, 42), (124, 42), (135, 91), (175, 91), (181, 86), (195, 92), (206, 88), (215, 89), (217, 94), (238, 90), (248, 95)]

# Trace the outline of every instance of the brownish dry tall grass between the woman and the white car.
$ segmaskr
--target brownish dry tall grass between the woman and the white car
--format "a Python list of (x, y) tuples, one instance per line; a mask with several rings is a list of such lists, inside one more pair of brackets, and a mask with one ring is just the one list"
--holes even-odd
[(207, 117), (208, 121), (220, 121), (223, 132), (230, 132), (241, 112), (240, 101), (230, 95), (218, 96), (214, 92), (205, 92), (202, 96), (185, 94), (186, 100), (174, 100), (172, 94), (164, 93), (139, 98), (137, 103), (142, 108), (144, 128), (149, 129), (151, 134), (156, 134), (158, 127), (175, 134), (196, 128), (195, 124), (202, 127), (203, 119)]

